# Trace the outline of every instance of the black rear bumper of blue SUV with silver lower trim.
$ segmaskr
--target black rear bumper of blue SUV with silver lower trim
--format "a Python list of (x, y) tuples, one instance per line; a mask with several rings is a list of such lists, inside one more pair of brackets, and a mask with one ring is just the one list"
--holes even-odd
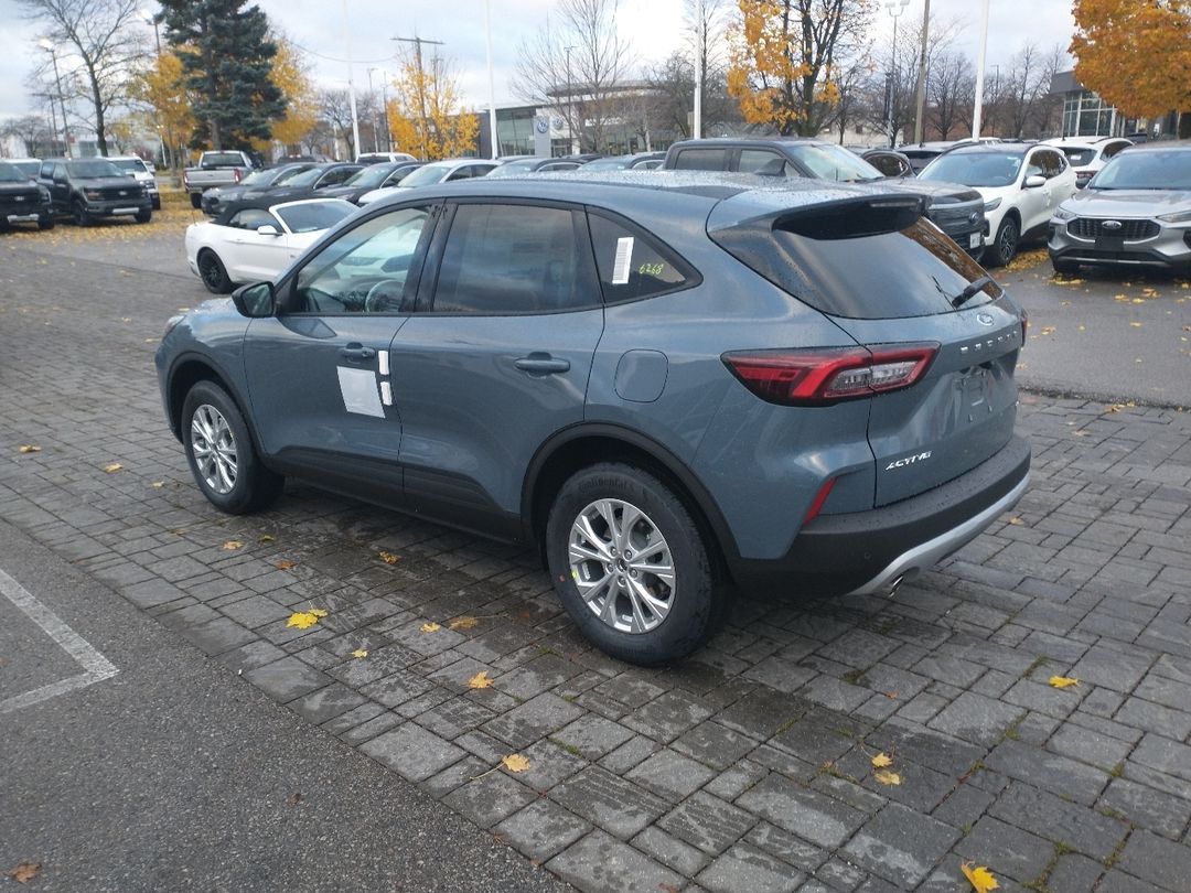
[(731, 561), (752, 591), (872, 594), (925, 570), (1011, 508), (1029, 482), (1030, 447), (1014, 437), (992, 458), (927, 493), (868, 512), (821, 516), (775, 561)]

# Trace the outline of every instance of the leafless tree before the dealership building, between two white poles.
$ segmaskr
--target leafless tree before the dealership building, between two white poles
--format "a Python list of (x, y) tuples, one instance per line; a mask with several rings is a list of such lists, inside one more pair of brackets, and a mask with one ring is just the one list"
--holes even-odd
[(580, 151), (606, 148), (629, 46), (616, 31), (616, 0), (559, 0), (557, 14), (522, 42), (513, 89), (553, 105)]

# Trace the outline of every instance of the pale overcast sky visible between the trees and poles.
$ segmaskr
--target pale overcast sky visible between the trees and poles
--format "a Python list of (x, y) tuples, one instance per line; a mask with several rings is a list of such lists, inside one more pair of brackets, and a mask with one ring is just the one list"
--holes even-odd
[[(520, 102), (510, 86), (517, 49), (545, 24), (551, 0), (488, 0), (492, 10), (492, 46), (498, 105)], [(888, 40), (891, 19), (879, 4), (874, 38)], [(258, 0), (269, 19), (310, 54), (314, 76), (324, 86), (345, 87), (348, 39), (355, 60), (355, 83), (368, 87), (368, 69), (393, 65), (391, 38), (414, 35), (442, 40), (438, 51), (453, 61), (467, 104), (488, 102), (485, 56), (485, 0), (347, 0), (348, 29), (344, 29), (343, 0)], [(622, 37), (634, 48), (634, 58), (648, 64), (663, 58), (681, 42), (682, 0), (621, 0), (617, 20)], [(145, 8), (156, 4), (145, 0)], [(923, 0), (910, 0), (900, 26), (921, 20)], [(979, 37), (979, 0), (933, 0), (935, 21), (958, 21), (958, 45), (975, 62)], [(17, 0), (0, 0), (0, 119), (33, 111), (39, 100), (29, 95), (26, 80), (44, 60), (37, 46), (36, 23), (24, 20)], [(1010, 57), (1028, 40), (1042, 49), (1071, 39), (1073, 20), (1070, 0), (991, 0), (987, 67), (1008, 67)], [(146, 35), (151, 29), (145, 26)], [(428, 50), (429, 51), (429, 50)], [(317, 55), (316, 55), (317, 54)], [(380, 88), (380, 73), (373, 83)]]

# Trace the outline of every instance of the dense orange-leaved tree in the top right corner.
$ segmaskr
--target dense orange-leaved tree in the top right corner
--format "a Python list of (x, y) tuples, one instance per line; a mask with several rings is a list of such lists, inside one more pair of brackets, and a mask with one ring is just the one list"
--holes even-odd
[(1191, 104), (1191, 2), (1075, 0), (1075, 77), (1127, 115)]

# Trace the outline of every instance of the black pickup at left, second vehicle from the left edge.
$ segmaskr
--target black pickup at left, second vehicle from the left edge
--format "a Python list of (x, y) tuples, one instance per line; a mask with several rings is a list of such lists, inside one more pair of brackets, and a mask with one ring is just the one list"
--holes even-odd
[(152, 218), (149, 192), (107, 158), (46, 158), (42, 186), (50, 191), (55, 214), (69, 214), (79, 226), (101, 217)]

